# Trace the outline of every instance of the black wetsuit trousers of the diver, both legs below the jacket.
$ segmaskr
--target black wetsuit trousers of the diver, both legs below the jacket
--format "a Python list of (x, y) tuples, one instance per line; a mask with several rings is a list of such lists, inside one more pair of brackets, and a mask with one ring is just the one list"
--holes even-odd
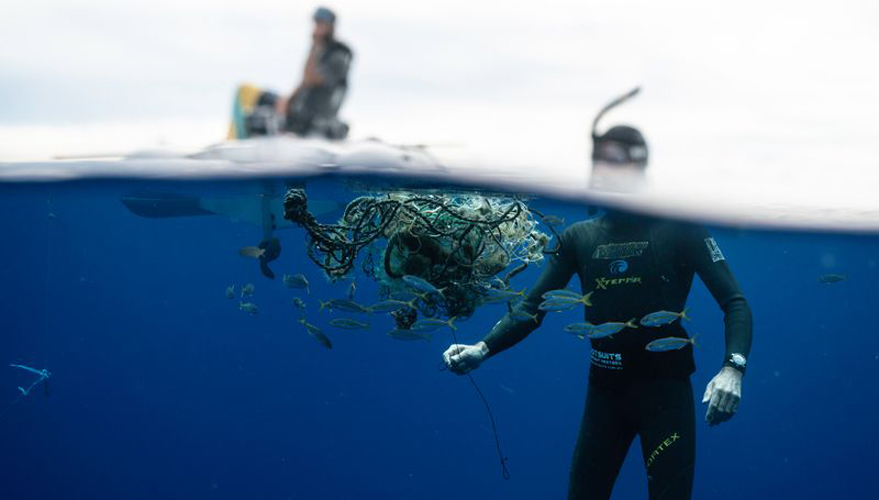
[(689, 377), (589, 385), (574, 448), (568, 500), (607, 499), (635, 436), (651, 500), (689, 499), (696, 458)]

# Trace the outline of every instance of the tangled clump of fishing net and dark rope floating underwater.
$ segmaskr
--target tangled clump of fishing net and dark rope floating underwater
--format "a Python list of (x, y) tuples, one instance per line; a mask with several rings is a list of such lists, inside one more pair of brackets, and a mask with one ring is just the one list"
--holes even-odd
[(330, 279), (345, 277), (364, 252), (363, 272), (382, 283), (383, 295), (405, 293), (404, 275), (442, 290), (421, 297), (428, 316), (469, 316), (479, 298), (499, 286), (498, 273), (542, 260), (550, 240), (522, 201), (477, 194), (362, 196), (339, 221), (322, 224), (308, 211), (305, 191), (290, 189), (284, 218), (306, 230), (308, 256)]

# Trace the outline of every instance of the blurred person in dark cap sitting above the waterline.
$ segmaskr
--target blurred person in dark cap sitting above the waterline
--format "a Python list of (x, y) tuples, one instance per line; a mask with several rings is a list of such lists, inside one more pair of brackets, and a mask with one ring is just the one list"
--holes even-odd
[(286, 117), (288, 132), (344, 139), (348, 125), (339, 120), (338, 113), (348, 91), (348, 70), (354, 55), (335, 37), (333, 11), (319, 7), (312, 19), (312, 43), (302, 81), (289, 97), (278, 99), (276, 109)]

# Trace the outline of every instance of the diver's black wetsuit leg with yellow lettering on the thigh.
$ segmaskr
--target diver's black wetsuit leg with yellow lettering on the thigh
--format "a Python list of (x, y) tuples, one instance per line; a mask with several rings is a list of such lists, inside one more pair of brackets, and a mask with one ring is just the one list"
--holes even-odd
[(650, 500), (688, 500), (696, 463), (696, 415), (689, 377), (639, 385), (641, 451)]

